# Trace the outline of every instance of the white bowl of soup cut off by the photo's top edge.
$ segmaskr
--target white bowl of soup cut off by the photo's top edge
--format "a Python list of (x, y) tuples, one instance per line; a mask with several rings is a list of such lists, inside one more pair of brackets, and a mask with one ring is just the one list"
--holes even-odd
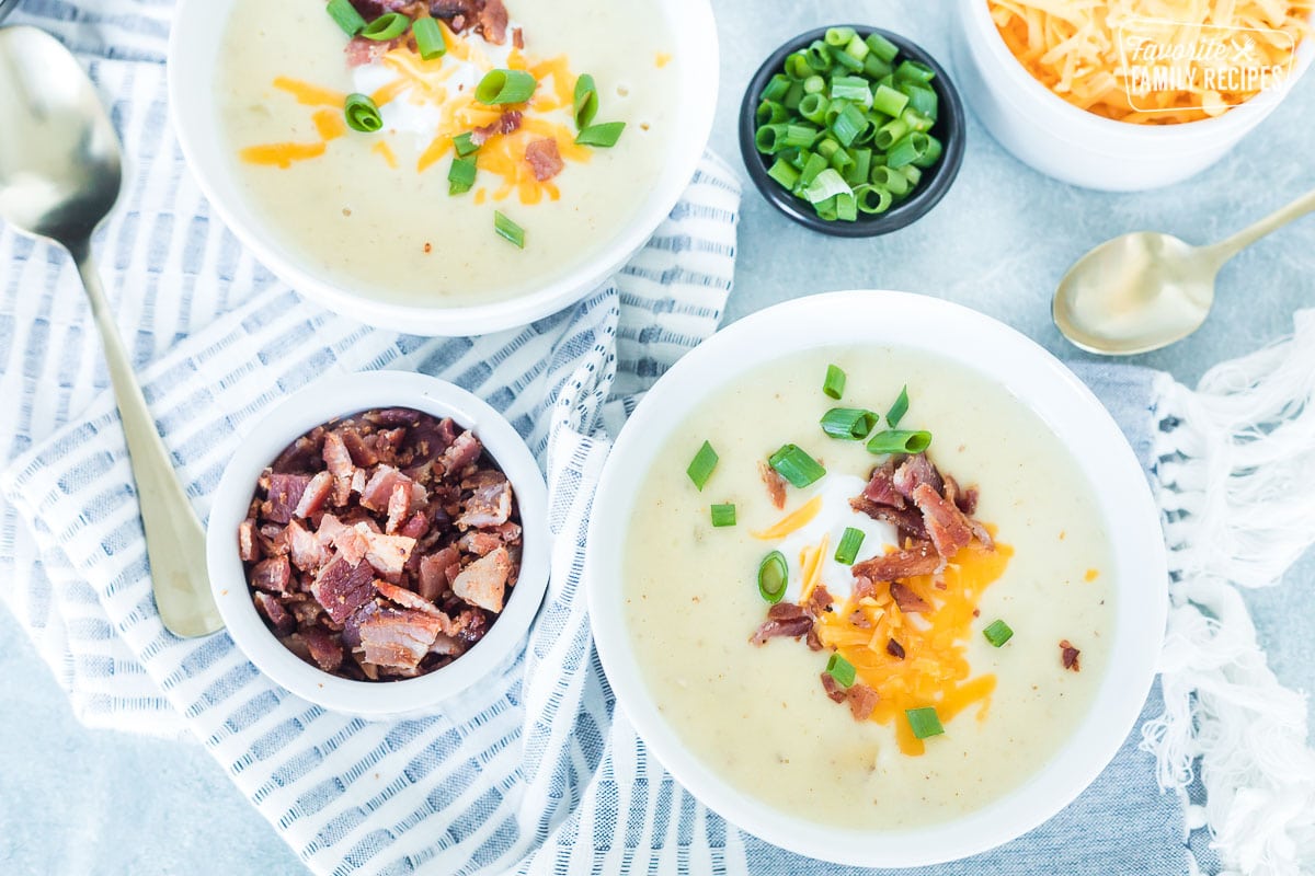
[(183, 0), (170, 108), (214, 211), (306, 298), (419, 335), (529, 323), (694, 175), (709, 0)]

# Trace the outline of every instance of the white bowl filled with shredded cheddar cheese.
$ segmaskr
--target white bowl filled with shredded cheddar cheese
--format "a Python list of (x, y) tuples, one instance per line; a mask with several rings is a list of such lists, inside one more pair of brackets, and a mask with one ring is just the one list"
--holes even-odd
[(1245, 137), (1310, 67), (1298, 4), (961, 0), (965, 102), (1019, 160), (1065, 183), (1180, 183)]

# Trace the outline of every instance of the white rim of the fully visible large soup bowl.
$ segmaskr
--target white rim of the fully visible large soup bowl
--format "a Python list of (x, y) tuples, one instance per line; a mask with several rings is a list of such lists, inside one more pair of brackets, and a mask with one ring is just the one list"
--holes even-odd
[[(909, 338), (901, 326), (935, 326), (935, 331)], [(764, 338), (771, 343), (763, 343)], [(1022, 787), (943, 825), (842, 830), (797, 818), (729, 784), (684, 746), (659, 713), (627, 638), (618, 584), (627, 525), (642, 479), (667, 436), (709, 393), (736, 376), (781, 356), (844, 344), (923, 349), (1001, 382), (1051, 426), (1078, 461), (1114, 544), (1114, 644), (1088, 714)], [(594, 499), (585, 565), (590, 624), (608, 679), (640, 738), (672, 775), (757, 837), (823, 860), (867, 867), (965, 858), (1031, 830), (1077, 797), (1114, 758), (1140, 714), (1164, 637), (1166, 575), (1159, 512), (1145, 473), (1091, 391), (1013, 328), (953, 303), (897, 292), (840, 292), (777, 305), (746, 317), (682, 357), (648, 391), (617, 440)]]

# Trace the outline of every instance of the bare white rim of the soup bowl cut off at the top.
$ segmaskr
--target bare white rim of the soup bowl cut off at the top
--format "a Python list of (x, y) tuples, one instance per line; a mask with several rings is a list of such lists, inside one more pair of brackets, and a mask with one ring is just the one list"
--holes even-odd
[[(530, 0), (534, 1), (534, 0)], [(226, 139), (214, 121), (213, 58), (233, 0), (180, 0), (168, 45), (168, 104), (174, 130), (188, 167), (205, 198), (224, 223), (262, 264), (308, 298), (330, 310), (394, 331), (421, 335), (480, 335), (556, 313), (584, 298), (643, 247), (689, 185), (702, 158), (717, 110), (719, 76), (717, 24), (709, 0), (663, 0), (677, 41), (681, 64), (679, 135), (671, 138), (671, 158), (661, 177), (643, 196), (643, 208), (614, 239), (579, 269), (526, 296), (488, 305), (423, 307), (354, 294), (306, 271), (304, 257), (284, 248), (245, 219), (252, 213), (234, 188)], [(216, 26), (218, 24), (220, 26)]]

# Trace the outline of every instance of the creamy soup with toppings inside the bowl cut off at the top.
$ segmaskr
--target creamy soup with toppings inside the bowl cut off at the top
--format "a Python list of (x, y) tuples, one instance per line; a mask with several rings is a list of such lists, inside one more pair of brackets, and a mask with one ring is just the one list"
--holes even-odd
[[(409, 35), (348, 38), (323, 0), (234, 1), (221, 127), (243, 194), (309, 273), (383, 301), (489, 303), (562, 278), (634, 218), (675, 134), (680, 58), (661, 5), (506, 1), (505, 30), (435, 18), (446, 54), (427, 60)], [(484, 3), (444, 0), (435, 16), (463, 5)], [(498, 70), (529, 74), (533, 97), (477, 100)], [(596, 110), (577, 123), (585, 75)], [(345, 125), (355, 93), (377, 106), (379, 130)], [(472, 133), (483, 144), (459, 155)]]

